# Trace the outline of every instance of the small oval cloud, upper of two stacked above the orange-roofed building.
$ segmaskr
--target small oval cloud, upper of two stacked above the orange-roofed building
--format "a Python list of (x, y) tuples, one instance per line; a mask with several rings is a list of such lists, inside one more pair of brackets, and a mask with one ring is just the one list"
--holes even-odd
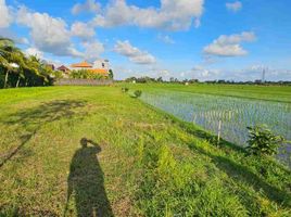
[(96, 35), (94, 29), (83, 22), (75, 22), (71, 26), (71, 33), (73, 36), (77, 36), (83, 39), (88, 39)]

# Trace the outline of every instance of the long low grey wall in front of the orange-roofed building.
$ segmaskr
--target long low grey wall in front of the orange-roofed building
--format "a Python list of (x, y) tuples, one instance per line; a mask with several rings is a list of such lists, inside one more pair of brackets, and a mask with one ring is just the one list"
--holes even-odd
[(61, 78), (54, 81), (55, 86), (107, 86), (112, 84), (113, 84), (112, 79), (94, 80), (94, 79)]

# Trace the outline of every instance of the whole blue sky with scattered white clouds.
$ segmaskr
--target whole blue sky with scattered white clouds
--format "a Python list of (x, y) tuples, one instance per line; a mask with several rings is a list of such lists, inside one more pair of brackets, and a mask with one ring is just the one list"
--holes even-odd
[(290, 0), (0, 0), (0, 36), (116, 79), (291, 80)]

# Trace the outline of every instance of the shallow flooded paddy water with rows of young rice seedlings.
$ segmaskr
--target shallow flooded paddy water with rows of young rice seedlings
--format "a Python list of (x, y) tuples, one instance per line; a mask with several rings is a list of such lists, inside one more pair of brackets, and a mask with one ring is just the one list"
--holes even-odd
[[(141, 99), (216, 135), (220, 120), (222, 138), (242, 146), (248, 141), (246, 127), (262, 124), (291, 140), (290, 103), (176, 91), (149, 91)], [(290, 155), (291, 146), (286, 145), (278, 157), (291, 166)]]

